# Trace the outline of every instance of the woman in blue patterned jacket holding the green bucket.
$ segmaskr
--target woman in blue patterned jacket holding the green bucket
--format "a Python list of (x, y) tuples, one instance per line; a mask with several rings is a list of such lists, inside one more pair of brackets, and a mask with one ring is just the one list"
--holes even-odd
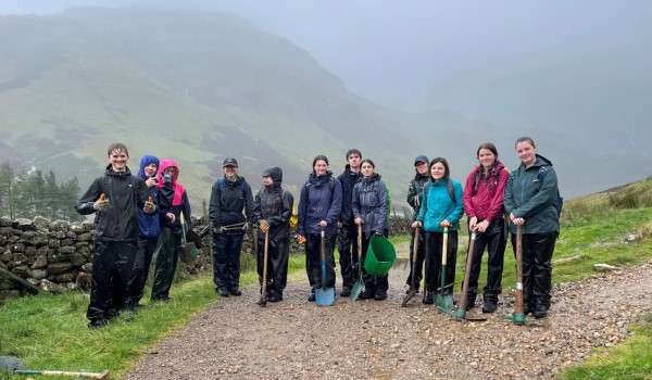
[(364, 269), (364, 262), (367, 256), (367, 249), (372, 237), (388, 235), (387, 215), (389, 200), (387, 198), (387, 187), (380, 179), (380, 175), (375, 173), (376, 165), (372, 160), (363, 160), (360, 164), (362, 180), (353, 187), (353, 217), (356, 225), (362, 225), (362, 259), (358, 265), (362, 265), (362, 279), (364, 281), (364, 291), (360, 293), (360, 299), (375, 299), (383, 301), (387, 299), (389, 289), (388, 275), (374, 277)]

